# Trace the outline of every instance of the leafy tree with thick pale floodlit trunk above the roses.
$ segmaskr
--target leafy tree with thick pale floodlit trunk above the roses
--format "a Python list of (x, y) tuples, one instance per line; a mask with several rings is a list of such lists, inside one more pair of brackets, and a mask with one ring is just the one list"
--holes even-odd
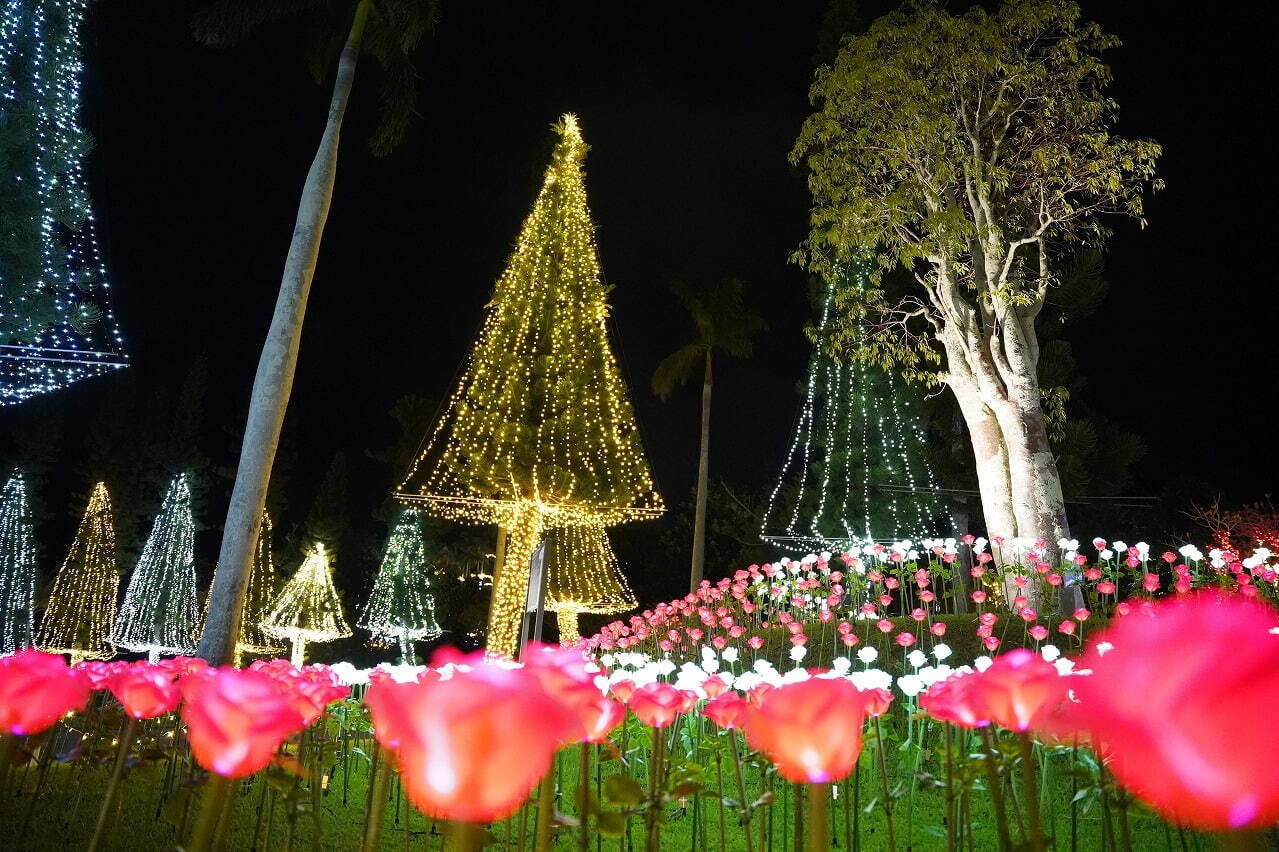
[[(1036, 377), (1055, 264), (1145, 223), (1160, 146), (1115, 134), (1101, 54), (1119, 40), (1068, 0), (953, 15), (918, 3), (845, 37), (792, 152), (810, 171), (815, 267), (879, 249), (913, 272), (840, 294), (844, 357), (954, 394), (991, 535), (1068, 533)], [(883, 271), (883, 270), (881, 270)]]

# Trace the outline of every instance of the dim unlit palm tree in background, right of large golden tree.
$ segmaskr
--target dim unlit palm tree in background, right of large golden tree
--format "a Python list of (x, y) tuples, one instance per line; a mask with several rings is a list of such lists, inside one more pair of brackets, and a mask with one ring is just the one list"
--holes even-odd
[(734, 358), (751, 357), (751, 338), (767, 324), (751, 313), (742, 301), (743, 284), (735, 278), (720, 279), (714, 287), (694, 287), (675, 281), (670, 287), (688, 311), (697, 329), (691, 343), (661, 359), (652, 374), (652, 391), (669, 399), (677, 385), (686, 384), (702, 368), (702, 441), (697, 458), (697, 507), (693, 516), (693, 559), (689, 591), (702, 582), (706, 564), (706, 496), (710, 478), (711, 385), (716, 352)]

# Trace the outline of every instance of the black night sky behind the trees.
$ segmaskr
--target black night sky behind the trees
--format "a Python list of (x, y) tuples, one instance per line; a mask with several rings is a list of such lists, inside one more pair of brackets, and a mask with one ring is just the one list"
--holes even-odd
[[(694, 394), (660, 403), (648, 391), (654, 366), (689, 334), (669, 283), (732, 275), (771, 331), (753, 361), (719, 374), (712, 475), (762, 491), (808, 357), (806, 275), (787, 261), (808, 198), (787, 154), (825, 5), (446, 0), (421, 51), (420, 116), (384, 159), (367, 152), (379, 81), (363, 68), (289, 413), (294, 504), (307, 505), (338, 450), (353, 513), (393, 487), (363, 450), (385, 443), (398, 397), (448, 393), (564, 111), (592, 146), (614, 343), (659, 487), (683, 498), (696, 471)], [(1186, 472), (1236, 501), (1269, 493), (1279, 472), (1273, 427), (1253, 413), (1273, 395), (1266, 330), (1279, 308), (1259, 280), (1273, 226), (1255, 174), (1271, 147), (1259, 106), (1273, 29), (1243, 5), (1085, 0), (1126, 41), (1109, 58), (1120, 130), (1165, 146), (1168, 188), (1145, 232), (1118, 224), (1110, 297), (1071, 333), (1083, 402), (1150, 445), (1138, 490)], [(329, 99), (297, 29), (208, 50), (174, 0), (100, 3), (87, 24), (92, 192), (133, 370), (173, 383), (207, 353), (206, 417), (219, 427), (243, 418)], [(93, 398), (88, 385), (61, 393)], [(686, 571), (671, 565), (670, 594)]]

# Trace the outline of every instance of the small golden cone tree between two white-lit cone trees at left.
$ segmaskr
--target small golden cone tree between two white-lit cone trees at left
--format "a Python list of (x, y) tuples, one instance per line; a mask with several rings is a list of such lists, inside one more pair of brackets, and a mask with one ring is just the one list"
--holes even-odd
[(98, 482), (88, 498), (72, 549), (54, 578), (36, 646), (51, 654), (70, 654), (73, 663), (115, 656), (111, 628), (119, 592), (111, 499), (106, 482)]

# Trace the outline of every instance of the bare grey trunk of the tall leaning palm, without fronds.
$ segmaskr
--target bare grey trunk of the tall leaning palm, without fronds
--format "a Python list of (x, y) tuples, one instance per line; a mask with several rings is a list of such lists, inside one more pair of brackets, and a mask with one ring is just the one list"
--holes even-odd
[(311, 170), (302, 187), (298, 219), (293, 226), (293, 239), (284, 261), (280, 294), (275, 302), (275, 315), (266, 333), (262, 356), (253, 377), (248, 421), (240, 444), (239, 467), (226, 509), (223, 545), (219, 551), (219, 571), (214, 576), (210, 592), (208, 619), (200, 640), (200, 656), (215, 665), (228, 664), (235, 654), (235, 641), (240, 633), (244, 595), (248, 590), (253, 564), (253, 548), (262, 523), (262, 505), (271, 480), (271, 466), (280, 441), (284, 411), (293, 389), (293, 372), (298, 363), (302, 343), (302, 319), (306, 313), (311, 279), (315, 276), (316, 258), (329, 205), (333, 201), (333, 183), (338, 171), (338, 137), (341, 119), (350, 99), (356, 79), (356, 64), (365, 36), (365, 23), (372, 0), (359, 0), (350, 24), (350, 35), (338, 61), (338, 78), (329, 102), (329, 120)]

